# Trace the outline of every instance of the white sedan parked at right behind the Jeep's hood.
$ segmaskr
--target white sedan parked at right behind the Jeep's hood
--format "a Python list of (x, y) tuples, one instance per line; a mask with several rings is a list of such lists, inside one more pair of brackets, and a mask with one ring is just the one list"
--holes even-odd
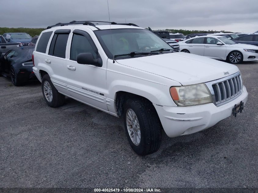
[(258, 60), (258, 46), (236, 44), (223, 36), (197, 36), (178, 43), (180, 52), (202, 55), (218, 60), (228, 60), (233, 64)]

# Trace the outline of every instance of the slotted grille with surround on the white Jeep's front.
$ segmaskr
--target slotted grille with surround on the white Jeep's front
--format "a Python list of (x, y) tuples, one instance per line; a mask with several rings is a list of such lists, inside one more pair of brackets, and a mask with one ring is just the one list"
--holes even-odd
[(223, 105), (242, 92), (242, 77), (240, 73), (235, 73), (231, 76), (205, 83), (211, 91), (213, 103), (216, 106)]

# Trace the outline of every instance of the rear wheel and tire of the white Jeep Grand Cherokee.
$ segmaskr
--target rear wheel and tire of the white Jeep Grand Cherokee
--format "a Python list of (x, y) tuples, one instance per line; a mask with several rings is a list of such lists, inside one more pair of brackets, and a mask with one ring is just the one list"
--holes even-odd
[(64, 95), (60, 94), (48, 74), (42, 78), (41, 89), (46, 103), (51, 107), (59, 107), (64, 104)]

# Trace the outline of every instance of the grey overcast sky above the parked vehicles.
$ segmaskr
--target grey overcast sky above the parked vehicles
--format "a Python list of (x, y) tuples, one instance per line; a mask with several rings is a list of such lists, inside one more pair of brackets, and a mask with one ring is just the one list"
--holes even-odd
[[(2, 1), (0, 1), (1, 3)], [(258, 0), (108, 0), (110, 20), (152, 29), (258, 30)], [(2, 2), (3, 3), (3, 2)], [(72, 20), (108, 21), (107, 0), (8, 0), (0, 27), (44, 27)]]

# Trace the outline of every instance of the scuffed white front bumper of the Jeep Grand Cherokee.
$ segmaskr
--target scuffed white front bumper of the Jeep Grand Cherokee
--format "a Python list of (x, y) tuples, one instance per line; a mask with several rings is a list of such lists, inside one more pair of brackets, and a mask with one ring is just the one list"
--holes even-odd
[(169, 137), (177, 137), (207, 129), (220, 120), (231, 116), (234, 105), (239, 104), (241, 101), (245, 105), (247, 96), (248, 93), (245, 86), (243, 86), (242, 93), (237, 98), (221, 106), (209, 103), (187, 107), (170, 107), (154, 104), (154, 107), (165, 133)]

